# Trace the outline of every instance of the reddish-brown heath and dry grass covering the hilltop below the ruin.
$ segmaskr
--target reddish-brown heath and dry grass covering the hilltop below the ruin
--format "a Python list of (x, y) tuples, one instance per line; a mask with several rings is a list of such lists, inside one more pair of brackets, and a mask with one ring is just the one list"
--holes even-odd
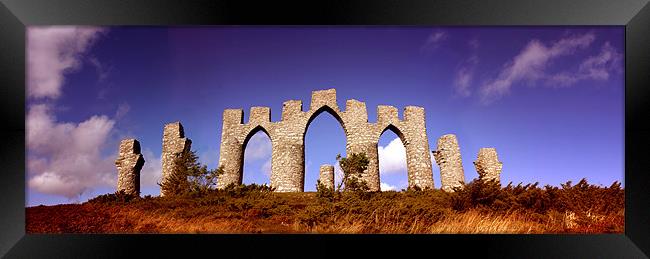
[(474, 181), (455, 193), (274, 193), (259, 185), (180, 197), (101, 195), (27, 208), (33, 233), (622, 233), (624, 190)]

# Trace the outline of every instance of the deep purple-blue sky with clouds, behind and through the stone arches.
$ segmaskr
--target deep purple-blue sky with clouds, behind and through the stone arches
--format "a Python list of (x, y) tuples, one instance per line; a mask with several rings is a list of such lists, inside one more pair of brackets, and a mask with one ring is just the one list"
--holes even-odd
[[(122, 138), (145, 156), (143, 195), (158, 195), (162, 129), (180, 120), (202, 162), (217, 166), (221, 114), (336, 88), (345, 100), (426, 110), (430, 149), (456, 134), (465, 178), (495, 147), (502, 181), (623, 181), (623, 27), (30, 27), (27, 205), (115, 190)], [(401, 142), (380, 139), (382, 189), (407, 186)], [(345, 154), (329, 114), (305, 139), (305, 189)], [(269, 183), (270, 141), (249, 142), (245, 183)], [(440, 187), (440, 171), (433, 177)]]

